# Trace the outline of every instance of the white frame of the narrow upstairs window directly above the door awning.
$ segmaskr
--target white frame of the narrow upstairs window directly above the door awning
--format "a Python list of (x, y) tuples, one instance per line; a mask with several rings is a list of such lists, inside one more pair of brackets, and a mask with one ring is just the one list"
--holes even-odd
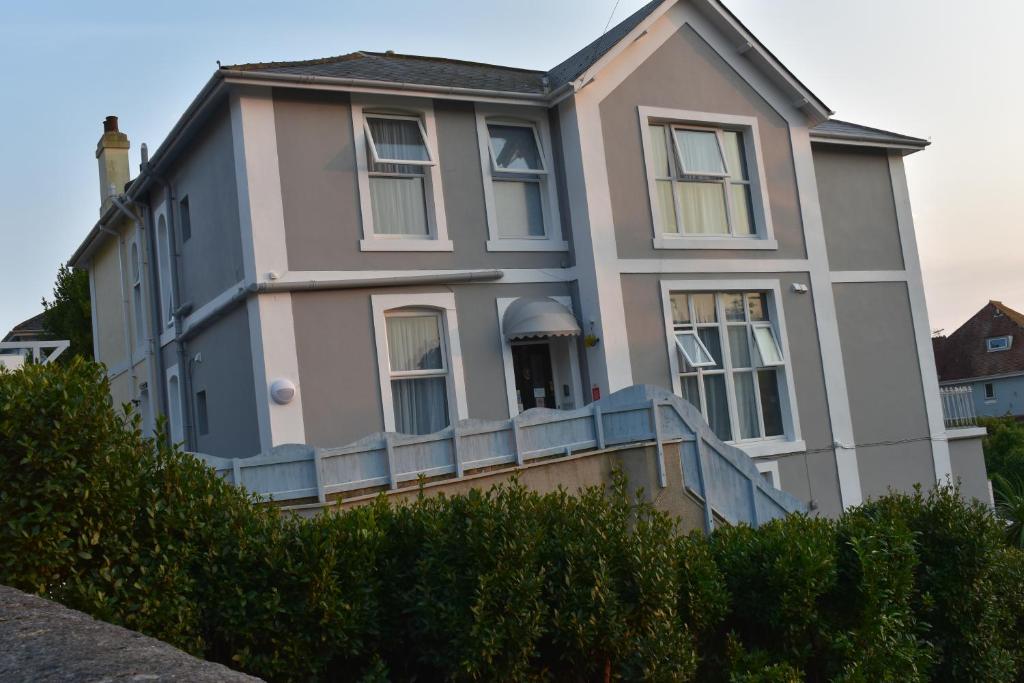
[[(509, 171), (495, 163), (494, 147), (487, 124), (519, 126), (534, 129), (534, 139), (541, 154), (541, 171)], [(483, 207), (487, 218), (487, 251), (531, 252), (568, 251), (568, 242), (562, 239), (561, 216), (558, 208), (558, 187), (555, 179), (555, 162), (548, 126), (547, 110), (516, 109), (509, 106), (476, 104), (476, 139), (480, 154), (480, 171), (483, 175)], [(508, 175), (541, 176), (541, 209), (544, 216), (544, 236), (536, 238), (502, 238), (498, 230), (495, 204), (494, 173)]]

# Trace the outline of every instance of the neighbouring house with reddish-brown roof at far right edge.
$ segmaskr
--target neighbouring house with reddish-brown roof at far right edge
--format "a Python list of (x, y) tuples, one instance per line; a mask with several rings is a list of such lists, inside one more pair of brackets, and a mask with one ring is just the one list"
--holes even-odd
[(932, 343), (944, 389), (969, 387), (978, 415), (1024, 418), (1024, 313), (989, 301)]

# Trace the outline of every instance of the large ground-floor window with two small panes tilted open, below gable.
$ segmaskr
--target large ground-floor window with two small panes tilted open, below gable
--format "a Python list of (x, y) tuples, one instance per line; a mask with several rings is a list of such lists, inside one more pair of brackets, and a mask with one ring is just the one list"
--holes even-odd
[(785, 357), (768, 292), (672, 292), (681, 395), (727, 441), (785, 435)]

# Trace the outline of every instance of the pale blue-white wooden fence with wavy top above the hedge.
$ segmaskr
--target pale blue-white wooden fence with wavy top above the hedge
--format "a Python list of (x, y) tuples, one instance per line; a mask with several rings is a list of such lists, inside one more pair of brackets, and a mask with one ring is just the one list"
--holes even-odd
[(315, 498), (375, 487), (394, 489), (420, 477), (462, 478), (469, 471), (523, 465), (631, 443), (657, 449), (667, 485), (664, 444), (680, 442), (683, 480), (705, 506), (730, 523), (757, 525), (804, 505), (769, 484), (751, 459), (721, 441), (692, 405), (650, 386), (634, 386), (574, 411), (535, 409), (512, 420), (463, 420), (422, 436), (377, 433), (336, 449), (287, 444), (252, 458), (197, 454), (228, 481), (273, 501)]

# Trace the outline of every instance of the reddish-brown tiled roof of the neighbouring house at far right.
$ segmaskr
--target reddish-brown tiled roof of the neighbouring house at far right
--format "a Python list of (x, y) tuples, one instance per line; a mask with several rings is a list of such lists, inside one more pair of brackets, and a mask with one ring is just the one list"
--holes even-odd
[[(985, 340), (1009, 336), (1010, 348), (989, 351)], [(948, 337), (932, 340), (940, 382), (1024, 373), (1024, 314), (989, 301)]]

